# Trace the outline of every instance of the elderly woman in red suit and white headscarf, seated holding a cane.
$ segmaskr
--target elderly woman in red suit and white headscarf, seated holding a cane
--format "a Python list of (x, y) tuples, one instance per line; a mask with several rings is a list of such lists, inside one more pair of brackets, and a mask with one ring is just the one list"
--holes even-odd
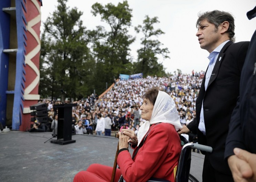
[[(143, 95), (140, 107), (141, 118), (146, 122), (137, 136), (134, 131), (122, 129), (119, 132), (119, 154), (115, 182), (148, 181), (159, 178), (175, 180), (181, 140), (177, 130), (182, 128), (175, 102), (165, 92), (152, 88)], [(133, 155), (128, 150), (134, 148)], [(74, 181), (111, 181), (113, 167), (92, 164), (86, 171), (75, 175)]]

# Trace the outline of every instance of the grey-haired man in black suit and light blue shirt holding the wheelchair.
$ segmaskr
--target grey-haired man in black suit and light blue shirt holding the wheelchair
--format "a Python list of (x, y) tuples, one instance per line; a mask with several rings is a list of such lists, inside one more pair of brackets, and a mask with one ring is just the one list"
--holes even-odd
[(199, 144), (213, 148), (212, 153), (205, 153), (203, 182), (230, 182), (225, 141), (249, 42), (233, 43), (235, 26), (230, 13), (215, 10), (198, 17), (196, 36), (200, 47), (210, 53), (210, 62), (196, 100), (196, 118), (178, 133), (196, 133)]

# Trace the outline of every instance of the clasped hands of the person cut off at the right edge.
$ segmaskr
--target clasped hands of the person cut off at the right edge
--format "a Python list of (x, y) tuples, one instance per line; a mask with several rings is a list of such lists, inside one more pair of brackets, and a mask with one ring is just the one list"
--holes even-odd
[(256, 182), (256, 154), (239, 148), (228, 158), (228, 165), (235, 182)]

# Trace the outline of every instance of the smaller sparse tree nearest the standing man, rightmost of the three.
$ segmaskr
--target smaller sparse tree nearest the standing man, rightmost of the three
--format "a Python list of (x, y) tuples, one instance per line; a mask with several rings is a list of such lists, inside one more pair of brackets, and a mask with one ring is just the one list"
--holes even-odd
[(136, 65), (137, 72), (142, 72), (143, 75), (157, 75), (165, 76), (165, 69), (163, 68), (162, 63), (158, 63), (157, 55), (162, 55), (163, 58), (170, 58), (168, 56), (168, 48), (161, 48), (163, 45), (157, 39), (152, 39), (153, 37), (158, 37), (159, 35), (164, 34), (160, 29), (155, 30), (154, 24), (159, 23), (157, 17), (149, 18), (148, 15), (145, 16), (143, 20), (143, 26), (138, 25), (135, 27), (137, 33), (142, 32), (144, 37), (141, 38), (142, 47), (137, 50), (138, 61), (134, 64)]

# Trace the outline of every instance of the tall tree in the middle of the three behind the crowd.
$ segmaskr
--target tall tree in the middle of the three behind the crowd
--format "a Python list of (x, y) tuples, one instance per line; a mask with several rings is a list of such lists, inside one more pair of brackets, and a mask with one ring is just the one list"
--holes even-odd
[(104, 7), (100, 3), (92, 5), (92, 14), (100, 15), (101, 20), (110, 26), (110, 31), (97, 26), (96, 30), (89, 33), (96, 61), (94, 79), (98, 85), (96, 88), (100, 91), (103, 91), (106, 82), (113, 83), (113, 78), (118, 78), (120, 73), (131, 73), (129, 46), (134, 42), (134, 38), (128, 34), (131, 12), (127, 1), (118, 3), (117, 6), (112, 3)]

